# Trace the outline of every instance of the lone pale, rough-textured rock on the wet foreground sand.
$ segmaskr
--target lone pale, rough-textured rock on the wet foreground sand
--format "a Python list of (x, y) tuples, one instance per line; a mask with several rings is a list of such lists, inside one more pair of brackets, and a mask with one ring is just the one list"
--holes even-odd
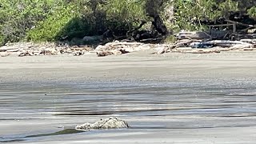
[(75, 126), (76, 130), (97, 130), (97, 129), (121, 129), (129, 128), (128, 123), (119, 118), (106, 118), (101, 119), (94, 123), (85, 123), (82, 125)]

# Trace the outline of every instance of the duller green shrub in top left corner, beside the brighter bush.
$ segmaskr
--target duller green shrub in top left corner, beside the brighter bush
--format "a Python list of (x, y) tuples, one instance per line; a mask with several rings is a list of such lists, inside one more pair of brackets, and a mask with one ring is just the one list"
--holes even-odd
[(1, 43), (18, 42), (24, 38), (26, 30), (46, 18), (58, 1), (60, 0), (2, 0), (0, 7)]

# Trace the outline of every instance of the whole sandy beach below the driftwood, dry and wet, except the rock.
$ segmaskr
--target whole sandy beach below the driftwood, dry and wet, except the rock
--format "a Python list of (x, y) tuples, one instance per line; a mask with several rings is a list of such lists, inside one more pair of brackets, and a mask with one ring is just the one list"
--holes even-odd
[[(0, 92), (0, 142), (256, 141), (254, 51), (6, 57), (0, 58)], [(60, 128), (111, 116), (132, 128)]]

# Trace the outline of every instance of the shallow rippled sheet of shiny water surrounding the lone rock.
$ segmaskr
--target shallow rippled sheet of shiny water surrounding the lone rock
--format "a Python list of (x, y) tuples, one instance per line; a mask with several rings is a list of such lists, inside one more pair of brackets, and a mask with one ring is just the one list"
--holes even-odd
[[(127, 120), (131, 129), (73, 130), (112, 116)], [(256, 126), (255, 116), (254, 81), (0, 83), (0, 142), (247, 127)]]

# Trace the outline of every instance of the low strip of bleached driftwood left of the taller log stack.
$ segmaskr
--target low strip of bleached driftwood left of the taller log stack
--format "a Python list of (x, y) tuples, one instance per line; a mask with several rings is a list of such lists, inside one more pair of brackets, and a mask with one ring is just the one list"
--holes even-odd
[(1, 57), (6, 57), (9, 55), (24, 57), (58, 54), (72, 54), (74, 56), (80, 56), (83, 54), (97, 54), (98, 57), (104, 57), (108, 55), (120, 55), (154, 48), (168, 49), (169, 45), (114, 41), (106, 43), (104, 46), (99, 45), (96, 47), (96, 49), (93, 49), (88, 46), (57, 46), (54, 43), (35, 44), (31, 42), (19, 42), (0, 47), (0, 55)]

